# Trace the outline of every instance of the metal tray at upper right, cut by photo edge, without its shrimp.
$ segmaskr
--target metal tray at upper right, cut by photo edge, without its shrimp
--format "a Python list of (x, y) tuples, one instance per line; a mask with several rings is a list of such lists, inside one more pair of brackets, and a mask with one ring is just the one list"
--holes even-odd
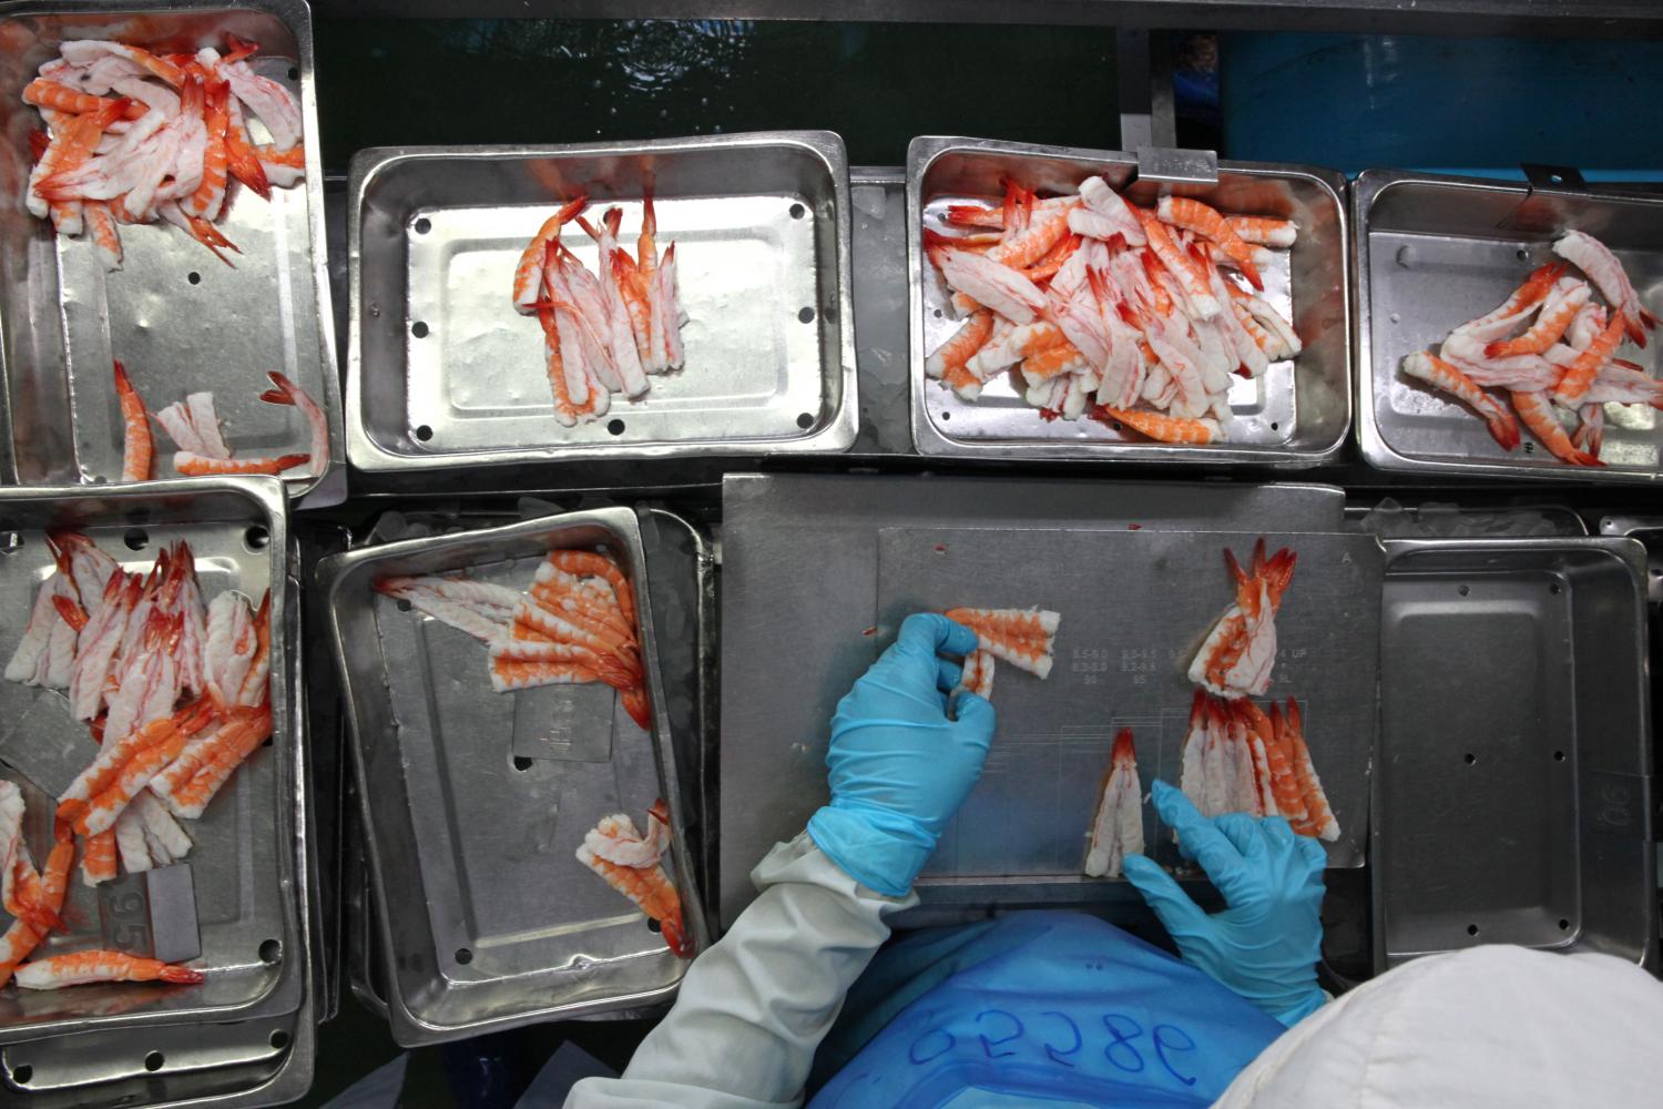
[[(1397, 369), (1557, 259), (1553, 239), (1570, 229), (1610, 246), (1640, 299), (1663, 311), (1663, 200), (1369, 170), (1352, 188), (1352, 228), (1357, 436), (1372, 466), (1578, 482), (1663, 476), (1663, 426), (1651, 407), (1606, 404), (1605, 466), (1572, 467), (1528, 431), (1523, 447), (1502, 451), (1470, 409)], [(1655, 372), (1656, 349), (1625, 343), (1618, 354)]]

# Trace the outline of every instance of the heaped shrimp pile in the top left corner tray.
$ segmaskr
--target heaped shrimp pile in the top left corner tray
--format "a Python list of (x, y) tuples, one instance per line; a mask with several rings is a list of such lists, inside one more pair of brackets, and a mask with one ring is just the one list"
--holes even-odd
[[(58, 47), (23, 88), (45, 131), (32, 135), (27, 203), (58, 234), (91, 236), (105, 268), (121, 268), (121, 223), (166, 219), (225, 264), (238, 248), (215, 228), (236, 178), (269, 200), (306, 170), (301, 106), (288, 88), (254, 73), (258, 50), (226, 37), (226, 53), (156, 55), (83, 38)], [(271, 145), (256, 146), (244, 110)], [(241, 253), (241, 251), (238, 251)]]

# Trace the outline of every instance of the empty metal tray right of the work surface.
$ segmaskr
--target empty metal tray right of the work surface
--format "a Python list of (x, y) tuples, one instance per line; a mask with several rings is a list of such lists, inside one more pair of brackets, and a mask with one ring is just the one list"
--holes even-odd
[(1387, 544), (1375, 966), (1656, 943), (1645, 549)]

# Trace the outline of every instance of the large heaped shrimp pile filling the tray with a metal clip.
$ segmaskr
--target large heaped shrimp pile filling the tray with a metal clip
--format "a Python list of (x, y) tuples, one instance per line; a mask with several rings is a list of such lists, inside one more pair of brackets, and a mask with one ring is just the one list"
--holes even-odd
[(1011, 371), (1046, 419), (1093, 419), (1161, 442), (1216, 442), (1231, 374), (1299, 354), (1292, 324), (1257, 293), (1284, 219), (1224, 216), (1197, 200), (1128, 205), (1103, 178), (1004, 206), (953, 205), (925, 254), (965, 324), (925, 371), (975, 401)]

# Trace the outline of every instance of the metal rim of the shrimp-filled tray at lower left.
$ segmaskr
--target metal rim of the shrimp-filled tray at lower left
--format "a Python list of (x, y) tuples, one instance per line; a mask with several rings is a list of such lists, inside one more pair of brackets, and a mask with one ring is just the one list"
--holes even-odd
[[(278, 800), (273, 803), (273, 820), (278, 835), (294, 841), (294, 853), (278, 851), (278, 885), (283, 904), (284, 943), (296, 941), (296, 951), (284, 953), (284, 968), (278, 981), (258, 998), (231, 1006), (196, 1006), (168, 1011), (135, 1011), (106, 1018), (65, 1018), (58, 1021), (42, 1021), (38, 1024), (0, 1029), (0, 1044), (17, 1044), (45, 1036), (63, 1036), (86, 1031), (116, 1031), (136, 1026), (178, 1026), (191, 1023), (223, 1023), (229, 1019), (256, 1019), (263, 1016), (283, 1016), (284, 1011), (268, 1013), (266, 1006), (274, 1004), (273, 998), (284, 989), (284, 981), (291, 974), (293, 959), (309, 963), (309, 923), (303, 913), (303, 903), (311, 896), (306, 888), (309, 871), (306, 866), (308, 821), (306, 805), (306, 763), (304, 743), (301, 740), (299, 707), (291, 702), (294, 678), (298, 673), (298, 652), (291, 652), (288, 630), (293, 625), (293, 609), (289, 602), (289, 534), (288, 534), (288, 490), (276, 477), (180, 477), (145, 482), (128, 482), (116, 485), (0, 485), (0, 510), (12, 504), (42, 504), (58, 507), (72, 500), (150, 500), (153, 497), (198, 497), (205, 494), (231, 494), (251, 500), (266, 517), (268, 545), (271, 552), (269, 589), (273, 612), (284, 614), (283, 635), (271, 637), (271, 673), (278, 693), (273, 695), (273, 758), (274, 790)], [(166, 527), (166, 524), (160, 524)], [(296, 658), (291, 658), (291, 653)], [(286, 748), (286, 750), (284, 750)], [(281, 755), (279, 755), (281, 752)], [(293, 803), (281, 798), (293, 791)], [(299, 888), (296, 888), (299, 886)], [(298, 966), (299, 1004), (311, 1001), (311, 968)], [(289, 1008), (288, 1011), (294, 1011)]]

